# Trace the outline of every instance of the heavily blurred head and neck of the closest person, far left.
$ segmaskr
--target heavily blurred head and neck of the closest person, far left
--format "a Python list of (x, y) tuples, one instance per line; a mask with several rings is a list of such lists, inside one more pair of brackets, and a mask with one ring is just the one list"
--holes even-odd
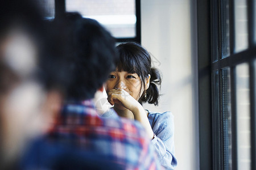
[(0, 6), (0, 164), (3, 166), (13, 162), (24, 144), (48, 128), (48, 116), (57, 108), (55, 102), (60, 102), (60, 95), (51, 91), (57, 83), (51, 82), (56, 79), (54, 72), (46, 71), (50, 55), (46, 53), (46, 27), (38, 8), (30, 1), (1, 1)]

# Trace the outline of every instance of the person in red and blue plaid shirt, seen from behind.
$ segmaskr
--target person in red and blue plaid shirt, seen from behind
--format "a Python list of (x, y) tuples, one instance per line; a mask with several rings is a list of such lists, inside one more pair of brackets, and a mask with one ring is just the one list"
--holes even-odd
[[(68, 76), (71, 84), (67, 86), (67, 98), (48, 137), (82, 154), (99, 154), (101, 167), (97, 169), (161, 168), (141, 124), (101, 118), (96, 112), (94, 94), (103, 90), (103, 83), (115, 69), (113, 37), (96, 20), (82, 18), (76, 12), (68, 12), (55, 24), (64, 31), (61, 42), (67, 45), (61, 47), (70, 56), (67, 70), (72, 74)], [(117, 166), (106, 167), (102, 160)]]

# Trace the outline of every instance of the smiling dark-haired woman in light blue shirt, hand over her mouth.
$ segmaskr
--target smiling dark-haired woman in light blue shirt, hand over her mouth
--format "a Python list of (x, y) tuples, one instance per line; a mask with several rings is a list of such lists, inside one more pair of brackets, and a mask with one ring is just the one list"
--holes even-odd
[(158, 105), (161, 84), (159, 71), (151, 67), (150, 54), (135, 42), (117, 46), (119, 61), (106, 82), (108, 101), (121, 117), (137, 120), (146, 129), (166, 169), (174, 169), (174, 121), (170, 112), (155, 113), (145, 110), (142, 103)]

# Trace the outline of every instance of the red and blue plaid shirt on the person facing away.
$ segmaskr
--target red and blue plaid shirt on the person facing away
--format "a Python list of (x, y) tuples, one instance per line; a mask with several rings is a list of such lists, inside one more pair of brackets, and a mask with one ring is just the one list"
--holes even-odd
[(141, 124), (102, 118), (91, 100), (64, 105), (49, 137), (87, 152), (104, 154), (122, 169), (160, 169)]

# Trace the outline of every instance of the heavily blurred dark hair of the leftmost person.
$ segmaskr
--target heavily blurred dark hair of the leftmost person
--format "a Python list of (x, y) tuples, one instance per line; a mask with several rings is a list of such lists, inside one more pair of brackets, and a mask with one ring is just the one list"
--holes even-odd
[[(37, 50), (35, 57), (36, 69), (30, 70), (30, 78), (38, 81), (46, 90), (59, 88), (69, 81), (64, 78), (64, 60), (57, 53), (53, 44), (57, 39), (52, 37), (53, 28), (49, 28), (44, 20), (44, 11), (32, 0), (23, 1), (1, 1), (0, 6), (0, 43), (5, 41), (5, 37), (10, 35), (10, 31), (18, 28), (30, 36)], [(55, 29), (54, 29), (55, 30)], [(21, 45), (21, 44), (20, 44)], [(19, 73), (11, 70), (6, 63), (3, 63), (3, 54), (0, 54), (0, 90), (11, 86), (11, 80), (19, 79)], [(15, 61), (19, 62), (19, 60)], [(7, 77), (7, 74), (10, 76)], [(6, 83), (2, 84), (2, 83)], [(9, 86), (7, 86), (9, 85)], [(62, 87), (63, 88), (63, 87)]]

